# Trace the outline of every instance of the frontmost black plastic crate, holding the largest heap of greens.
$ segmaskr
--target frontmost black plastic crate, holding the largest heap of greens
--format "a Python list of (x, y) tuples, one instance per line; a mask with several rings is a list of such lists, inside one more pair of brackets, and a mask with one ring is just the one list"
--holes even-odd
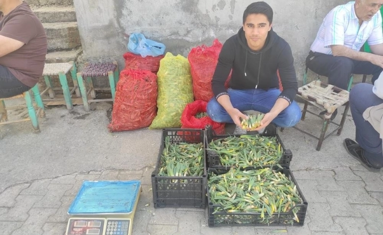
[[(221, 170), (221, 169), (220, 169)], [(214, 172), (215, 174), (226, 173), (229, 170), (218, 172), (216, 169), (209, 169), (209, 174)], [(299, 196), (301, 197), (302, 203), (297, 204), (295, 208), (298, 208), (297, 216), (299, 222), (294, 220), (293, 226), (302, 226), (304, 224), (304, 219), (306, 217), (306, 211), (308, 203), (304, 198), (301, 189), (299, 188), (297, 181), (294, 178), (293, 173), (291, 172), (289, 167), (284, 169), (279, 169), (278, 171), (283, 171), (291, 181), (297, 186), (297, 191)], [(274, 213), (274, 218), (269, 220), (269, 224), (261, 223), (261, 213), (260, 212), (236, 212), (229, 213), (226, 212), (220, 205), (215, 205), (211, 202), (209, 188), (208, 188), (208, 225), (209, 227), (220, 227), (220, 226), (268, 226), (268, 225), (291, 225), (287, 224), (286, 220), (292, 220), (294, 218), (294, 214), (291, 209), (289, 212), (280, 212), (279, 217), (278, 213)], [(218, 211), (214, 213), (216, 208), (221, 208), (222, 211)]]

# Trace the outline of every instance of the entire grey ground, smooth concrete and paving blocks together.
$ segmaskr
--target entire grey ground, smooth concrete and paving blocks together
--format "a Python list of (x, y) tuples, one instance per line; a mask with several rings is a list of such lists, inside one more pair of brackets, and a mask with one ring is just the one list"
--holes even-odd
[[(342, 146), (344, 138), (354, 138), (351, 117), (342, 135), (328, 138), (319, 152), (317, 141), (294, 129), (280, 133), (308, 201), (302, 227), (209, 228), (206, 210), (153, 208), (151, 173), (161, 132), (110, 134), (109, 108), (48, 109), (37, 135), (27, 122), (0, 128), (1, 235), (63, 235), (84, 180), (141, 181), (133, 235), (383, 235), (383, 173), (366, 171)], [(308, 117), (305, 123), (318, 129), (320, 120)]]

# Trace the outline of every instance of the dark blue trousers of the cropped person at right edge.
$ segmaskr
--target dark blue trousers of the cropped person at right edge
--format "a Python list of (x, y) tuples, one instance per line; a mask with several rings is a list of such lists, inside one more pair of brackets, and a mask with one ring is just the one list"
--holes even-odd
[(356, 142), (364, 149), (364, 156), (372, 165), (383, 165), (382, 139), (370, 122), (364, 120), (363, 112), (371, 106), (383, 103), (372, 92), (373, 85), (356, 84), (350, 92), (350, 108), (356, 127)]

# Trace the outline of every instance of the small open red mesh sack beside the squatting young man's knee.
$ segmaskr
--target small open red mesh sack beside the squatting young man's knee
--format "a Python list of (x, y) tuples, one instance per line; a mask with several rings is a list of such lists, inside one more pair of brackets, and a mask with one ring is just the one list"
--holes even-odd
[(196, 118), (198, 113), (205, 113), (207, 102), (196, 100), (186, 105), (181, 116), (181, 128), (203, 129), (206, 125), (211, 125), (217, 135), (221, 135), (225, 131), (225, 123), (219, 123), (212, 120), (210, 117)]

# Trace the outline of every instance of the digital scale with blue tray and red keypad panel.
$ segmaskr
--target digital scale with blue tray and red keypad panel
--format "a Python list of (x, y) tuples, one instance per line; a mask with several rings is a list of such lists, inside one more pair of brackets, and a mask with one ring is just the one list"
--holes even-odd
[(131, 235), (140, 181), (84, 181), (65, 235)]

